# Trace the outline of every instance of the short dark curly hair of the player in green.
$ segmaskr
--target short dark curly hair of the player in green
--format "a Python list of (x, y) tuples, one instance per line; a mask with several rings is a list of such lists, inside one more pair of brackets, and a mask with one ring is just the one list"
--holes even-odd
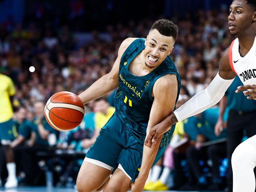
[(154, 22), (150, 31), (158, 30), (161, 35), (172, 36), (176, 41), (178, 35), (178, 27), (173, 22), (167, 19), (159, 19)]

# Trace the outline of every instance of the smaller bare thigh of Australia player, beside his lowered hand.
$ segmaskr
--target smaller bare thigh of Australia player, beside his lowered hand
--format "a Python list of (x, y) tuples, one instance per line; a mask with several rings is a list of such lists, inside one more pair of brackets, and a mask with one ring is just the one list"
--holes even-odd
[(117, 168), (103, 192), (127, 192), (131, 185), (131, 179), (122, 170)]

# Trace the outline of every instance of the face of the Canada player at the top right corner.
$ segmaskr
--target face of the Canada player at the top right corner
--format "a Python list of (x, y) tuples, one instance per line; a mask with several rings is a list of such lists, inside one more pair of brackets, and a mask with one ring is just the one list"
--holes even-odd
[(255, 20), (254, 9), (247, 4), (246, 0), (234, 0), (229, 12), (228, 29), (232, 35), (238, 35), (247, 30)]

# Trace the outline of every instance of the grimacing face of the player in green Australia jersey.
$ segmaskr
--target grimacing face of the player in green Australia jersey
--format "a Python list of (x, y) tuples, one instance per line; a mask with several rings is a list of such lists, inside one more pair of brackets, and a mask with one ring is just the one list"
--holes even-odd
[(149, 68), (160, 65), (171, 54), (173, 45), (173, 37), (161, 35), (156, 29), (150, 31), (145, 41), (145, 65)]

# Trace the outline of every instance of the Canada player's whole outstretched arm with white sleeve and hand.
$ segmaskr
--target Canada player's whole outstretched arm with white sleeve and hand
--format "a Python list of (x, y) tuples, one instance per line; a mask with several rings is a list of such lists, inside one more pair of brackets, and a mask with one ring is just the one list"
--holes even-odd
[(154, 126), (150, 130), (150, 134), (145, 142), (147, 146), (150, 147), (152, 142), (157, 142), (159, 135), (168, 131), (176, 122), (201, 113), (221, 100), (236, 76), (229, 64), (228, 50), (229, 48), (224, 51), (219, 63), (219, 73), (211, 81), (210, 85), (195, 94), (184, 105), (167, 116), (160, 124)]

